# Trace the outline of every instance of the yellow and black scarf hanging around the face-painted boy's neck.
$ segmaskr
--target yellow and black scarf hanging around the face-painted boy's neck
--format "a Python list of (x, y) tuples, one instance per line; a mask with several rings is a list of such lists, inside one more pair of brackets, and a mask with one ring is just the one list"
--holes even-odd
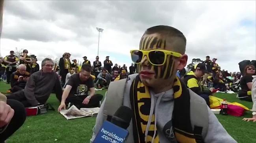
[[(192, 129), (190, 119), (190, 95), (187, 87), (178, 77), (174, 80), (174, 110), (173, 123), (175, 138), (179, 143), (202, 143), (201, 127)], [(135, 143), (145, 143), (145, 131), (149, 119), (151, 99), (149, 89), (145, 86), (139, 76), (136, 76), (130, 89), (131, 107), (133, 110), (133, 136)], [(155, 116), (153, 113), (151, 123), (146, 137), (146, 143), (151, 143), (154, 134)], [(159, 143), (156, 133), (154, 143)]]

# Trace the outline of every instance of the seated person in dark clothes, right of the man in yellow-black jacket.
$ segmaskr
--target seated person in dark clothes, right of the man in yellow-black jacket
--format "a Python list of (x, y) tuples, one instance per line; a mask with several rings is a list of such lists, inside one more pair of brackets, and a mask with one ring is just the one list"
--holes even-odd
[(213, 80), (213, 87), (215, 89), (219, 88), (219, 91), (221, 92), (234, 93), (230, 90), (228, 83), (225, 84), (222, 72), (216, 73), (215, 79)]

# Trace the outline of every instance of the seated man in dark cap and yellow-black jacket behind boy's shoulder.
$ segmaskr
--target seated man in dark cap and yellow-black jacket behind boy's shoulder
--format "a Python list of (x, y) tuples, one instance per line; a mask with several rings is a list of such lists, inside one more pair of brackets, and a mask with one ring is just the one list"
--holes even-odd
[(209, 73), (203, 63), (198, 63), (194, 65), (190, 72), (188, 72), (184, 76), (185, 85), (196, 94), (204, 98), (208, 106), (210, 106), (209, 95), (211, 95), (210, 90), (204, 90), (204, 87), (201, 85), (201, 78), (204, 76), (205, 73)]

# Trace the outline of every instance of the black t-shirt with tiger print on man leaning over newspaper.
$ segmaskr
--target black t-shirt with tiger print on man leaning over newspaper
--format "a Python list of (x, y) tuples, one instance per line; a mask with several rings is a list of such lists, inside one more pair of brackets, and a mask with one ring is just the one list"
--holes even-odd
[(69, 78), (67, 85), (72, 86), (68, 98), (81, 98), (81, 100), (84, 100), (84, 98), (88, 96), (90, 88), (94, 87), (92, 77), (88, 78), (86, 81), (81, 81), (78, 73), (73, 74)]

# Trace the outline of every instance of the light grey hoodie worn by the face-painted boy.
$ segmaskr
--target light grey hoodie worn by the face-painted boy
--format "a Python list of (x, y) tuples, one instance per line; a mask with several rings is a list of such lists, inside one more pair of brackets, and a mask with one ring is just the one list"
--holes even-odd
[[(132, 76), (129, 76), (131, 80), (127, 81), (125, 92), (124, 92), (124, 98), (123, 98), (123, 105), (131, 108), (130, 103), (130, 87), (132, 84), (133, 79), (136, 77), (133, 74)], [(150, 96), (151, 96), (151, 111), (154, 110), (155, 112), (155, 126), (157, 128), (157, 132), (159, 134), (159, 141), (160, 143), (176, 143), (176, 139), (174, 137), (173, 132), (170, 129), (170, 132), (168, 136), (164, 135), (163, 130), (166, 131), (164, 126), (166, 124), (172, 123), (172, 113), (174, 109), (174, 93), (173, 89), (170, 89), (169, 91), (161, 92), (159, 94), (155, 94), (151, 90), (149, 90)], [(99, 111), (99, 114), (96, 118), (96, 123), (93, 128), (93, 136), (91, 138), (91, 142), (95, 139), (95, 136), (99, 132), (99, 129), (101, 128), (103, 124), (103, 107), (105, 106), (105, 101), (103, 101), (101, 105), (101, 109)], [(226, 132), (226, 130), (223, 128), (223, 126), (219, 123), (216, 116), (213, 114), (211, 109), (208, 108), (208, 115), (209, 117), (209, 125), (206, 136), (203, 136), (205, 143), (236, 143), (236, 141)], [(130, 122), (129, 127), (127, 128), (129, 131), (129, 136), (126, 139), (126, 143), (133, 143), (133, 123)], [(147, 129), (148, 130), (148, 129)], [(145, 132), (145, 135), (147, 134), (147, 130)]]

